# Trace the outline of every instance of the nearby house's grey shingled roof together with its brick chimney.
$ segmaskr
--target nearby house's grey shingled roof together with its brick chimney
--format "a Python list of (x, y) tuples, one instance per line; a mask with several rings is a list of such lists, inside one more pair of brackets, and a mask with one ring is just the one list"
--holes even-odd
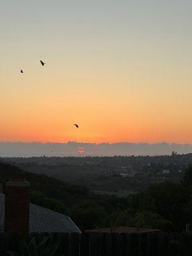
[(77, 232), (81, 230), (65, 214), (29, 203), (29, 182), (10, 179), (0, 193), (0, 232)]

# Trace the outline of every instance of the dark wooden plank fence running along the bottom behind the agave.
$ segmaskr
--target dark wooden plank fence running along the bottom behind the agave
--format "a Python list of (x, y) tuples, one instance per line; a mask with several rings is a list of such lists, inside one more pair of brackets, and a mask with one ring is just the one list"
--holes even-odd
[[(20, 239), (28, 243), (49, 236), (49, 244), (58, 243), (58, 255), (64, 256), (191, 256), (192, 234), (67, 234), (31, 233), (26, 236), (0, 234), (0, 255), (19, 252)], [(49, 256), (49, 255), (47, 255)]]

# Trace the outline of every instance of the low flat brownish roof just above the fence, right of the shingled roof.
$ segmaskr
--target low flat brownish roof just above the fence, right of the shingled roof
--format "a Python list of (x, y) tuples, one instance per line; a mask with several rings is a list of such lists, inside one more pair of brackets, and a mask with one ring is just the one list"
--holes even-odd
[[(95, 228), (91, 230), (86, 230), (88, 233), (111, 233), (111, 228)], [(114, 233), (149, 233), (149, 232), (161, 232), (160, 229), (154, 228), (136, 228), (136, 227), (116, 227), (113, 229)]]

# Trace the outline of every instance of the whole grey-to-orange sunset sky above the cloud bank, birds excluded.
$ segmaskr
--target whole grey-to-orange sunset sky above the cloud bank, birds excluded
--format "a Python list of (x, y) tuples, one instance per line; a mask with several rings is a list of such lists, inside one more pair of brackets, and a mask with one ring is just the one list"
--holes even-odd
[(191, 0), (2, 1), (0, 141), (192, 143), (191, 13)]

